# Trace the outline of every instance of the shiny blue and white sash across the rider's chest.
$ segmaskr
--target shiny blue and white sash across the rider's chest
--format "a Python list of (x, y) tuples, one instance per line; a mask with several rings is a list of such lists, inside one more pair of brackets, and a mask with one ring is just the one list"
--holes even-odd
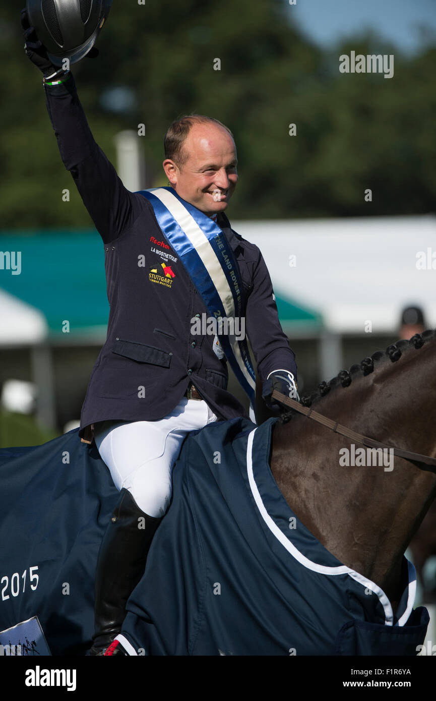
[[(212, 318), (241, 317), (242, 283), (238, 264), (222, 230), (196, 207), (182, 200), (172, 187), (140, 190), (153, 206), (157, 222), (200, 293)], [(250, 399), (254, 419), (256, 376), (245, 339), (219, 335), (227, 360)]]

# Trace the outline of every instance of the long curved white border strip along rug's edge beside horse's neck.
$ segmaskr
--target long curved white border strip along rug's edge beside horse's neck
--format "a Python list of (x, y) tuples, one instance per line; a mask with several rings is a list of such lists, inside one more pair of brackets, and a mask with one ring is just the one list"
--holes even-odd
[[(250, 488), (252, 490), (252, 494), (254, 497), (254, 501), (256, 502), (257, 508), (259, 509), (259, 512), (261, 513), (261, 517), (264, 519), (264, 522), (268, 526), (268, 529), (270, 529), (271, 533), (280, 540), (280, 543), (286, 548), (287, 552), (292, 555), (300, 564), (302, 564), (304, 567), (307, 569), (312, 570), (313, 572), (319, 572), (320, 574), (326, 574), (326, 575), (338, 575), (338, 574), (348, 574), (350, 577), (352, 577), (354, 580), (359, 582), (363, 587), (371, 590), (374, 592), (374, 594), (379, 597), (379, 601), (381, 605), (383, 606), (383, 610), (385, 612), (385, 625), (393, 625), (393, 610), (392, 606), (390, 605), (390, 601), (388, 597), (386, 596), (385, 592), (376, 585), (376, 583), (372, 582), (371, 580), (367, 579), (363, 575), (359, 574), (358, 572), (355, 572), (354, 570), (350, 569), (346, 565), (341, 565), (341, 566), (336, 566), (336, 567), (327, 567), (325, 565), (320, 565), (317, 564), (316, 562), (312, 562), (312, 560), (309, 560), (304, 554), (302, 554), (299, 550), (297, 550), (297, 547), (291, 541), (289, 538), (285, 536), (282, 531), (280, 531), (278, 525), (275, 523), (275, 521), (271, 518), (271, 516), (268, 514), (264, 502), (261, 499), (261, 496), (259, 494), (259, 489), (257, 489), (257, 484), (254, 480), (254, 475), (253, 475), (253, 463), (252, 463), (252, 447), (253, 447), (253, 440), (254, 440), (254, 433), (256, 433), (257, 428), (254, 428), (250, 435), (248, 436), (248, 442), (247, 442), (247, 475), (248, 475), (248, 481), (250, 482)], [(409, 596), (410, 596), (410, 585), (409, 585)], [(403, 614), (402, 618), (404, 618), (405, 613)], [(402, 618), (400, 620), (402, 620)], [(400, 622), (399, 622), (400, 625)], [(401, 624), (403, 625), (403, 624)]]

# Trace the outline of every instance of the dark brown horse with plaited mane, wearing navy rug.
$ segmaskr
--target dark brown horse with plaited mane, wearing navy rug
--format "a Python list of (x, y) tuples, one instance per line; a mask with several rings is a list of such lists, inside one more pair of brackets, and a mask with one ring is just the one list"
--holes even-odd
[[(261, 426), (241, 417), (192, 432), (126, 606), (128, 654), (416, 654), (428, 612), (411, 611), (409, 594), (402, 613), (403, 553), (436, 494), (435, 350), (428, 331), (378, 351), (296, 402), (309, 416), (292, 404)], [(319, 416), (325, 425), (312, 421)], [(77, 433), (0, 451), (0, 539), (10, 543), (0, 630), (38, 615), (60, 655), (90, 646), (97, 552), (118, 501), (97, 450)], [(393, 451), (393, 464), (365, 465), (362, 454), (344, 464), (360, 438)], [(311, 570), (294, 536), (319, 566)], [(325, 618), (319, 630), (313, 613)]]

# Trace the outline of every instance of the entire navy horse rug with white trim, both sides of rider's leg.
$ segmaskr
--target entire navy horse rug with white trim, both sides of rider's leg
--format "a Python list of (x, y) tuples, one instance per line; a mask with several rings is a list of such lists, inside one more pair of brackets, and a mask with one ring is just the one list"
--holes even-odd
[[(118, 636), (129, 655), (416, 655), (423, 644), (414, 566), (404, 560), (394, 615), (289, 508), (268, 464), (274, 422), (236, 418), (186, 438)], [(53, 655), (90, 647), (97, 553), (118, 501), (77, 433), (0, 451), (0, 630), (37, 615)]]

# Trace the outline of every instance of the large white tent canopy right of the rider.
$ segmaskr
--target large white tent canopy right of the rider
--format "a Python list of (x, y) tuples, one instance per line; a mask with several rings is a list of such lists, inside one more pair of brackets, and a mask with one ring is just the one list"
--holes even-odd
[[(402, 308), (412, 305), (436, 327), (435, 215), (232, 226), (259, 246), (275, 294), (322, 313), (329, 332), (364, 333), (371, 322), (373, 333), (395, 333)], [(430, 267), (418, 269), (418, 259)]]

